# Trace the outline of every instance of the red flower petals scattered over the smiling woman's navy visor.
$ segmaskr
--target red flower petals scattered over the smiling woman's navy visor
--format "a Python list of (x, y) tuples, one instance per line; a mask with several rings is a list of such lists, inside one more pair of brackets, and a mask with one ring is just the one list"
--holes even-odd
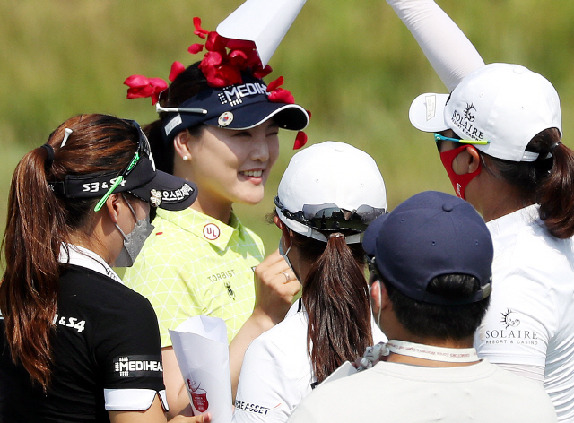
[[(215, 31), (204, 30), (201, 27), (201, 19), (194, 18), (194, 27), (199, 38), (205, 39), (205, 44), (192, 44), (187, 51), (192, 55), (207, 50), (199, 69), (204, 73), (207, 84), (213, 88), (223, 88), (242, 82), (241, 72), (250, 71), (256, 78), (262, 79), (272, 72), (271, 66), (263, 67), (261, 59), (257, 55), (257, 48), (253, 41), (241, 39), (226, 39)], [(173, 82), (186, 70), (180, 62), (173, 62), (170, 69), (170, 82)], [(168, 83), (161, 78), (146, 78), (143, 75), (132, 75), (124, 81), (127, 89), (127, 99), (152, 98), (152, 105), (160, 99), (161, 91), (168, 88)], [(295, 103), (290, 91), (280, 88), (283, 85), (283, 76), (280, 76), (267, 85), (269, 101), (274, 103)], [(309, 118), (311, 113), (307, 111)], [(303, 131), (297, 133), (293, 150), (300, 149), (307, 142), (307, 134)]]

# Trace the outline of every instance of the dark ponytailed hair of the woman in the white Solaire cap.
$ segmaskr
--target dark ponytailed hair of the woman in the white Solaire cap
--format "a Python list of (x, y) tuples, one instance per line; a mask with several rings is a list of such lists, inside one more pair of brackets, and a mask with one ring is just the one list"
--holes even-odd
[(548, 231), (564, 239), (574, 235), (574, 151), (560, 141), (558, 129), (545, 129), (526, 146), (538, 153), (535, 161), (489, 160), (525, 203), (540, 204)]

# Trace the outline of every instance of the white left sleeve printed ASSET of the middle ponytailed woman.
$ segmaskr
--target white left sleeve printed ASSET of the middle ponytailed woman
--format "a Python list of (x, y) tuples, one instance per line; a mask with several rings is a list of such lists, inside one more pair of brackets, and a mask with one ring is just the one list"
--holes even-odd
[(281, 423), (301, 401), (290, 360), (273, 342), (257, 338), (245, 352), (233, 423)]

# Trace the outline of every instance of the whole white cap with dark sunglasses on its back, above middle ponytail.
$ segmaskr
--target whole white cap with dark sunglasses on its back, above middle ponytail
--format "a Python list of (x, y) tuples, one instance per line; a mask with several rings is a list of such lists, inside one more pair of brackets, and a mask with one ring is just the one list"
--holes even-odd
[(347, 244), (361, 242), (369, 223), (387, 212), (377, 163), (344, 142), (321, 142), (295, 154), (277, 191), (279, 219), (294, 232), (321, 241), (329, 232), (349, 229)]

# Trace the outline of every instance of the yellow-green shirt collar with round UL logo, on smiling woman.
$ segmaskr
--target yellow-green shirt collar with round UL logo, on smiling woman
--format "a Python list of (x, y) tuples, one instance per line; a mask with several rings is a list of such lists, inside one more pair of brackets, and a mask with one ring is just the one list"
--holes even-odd
[(191, 207), (178, 212), (158, 209), (157, 214), (161, 219), (170, 221), (220, 250), (225, 250), (233, 237), (243, 237), (245, 234), (245, 227), (233, 211), (231, 211), (229, 225), (207, 214), (197, 212)]

